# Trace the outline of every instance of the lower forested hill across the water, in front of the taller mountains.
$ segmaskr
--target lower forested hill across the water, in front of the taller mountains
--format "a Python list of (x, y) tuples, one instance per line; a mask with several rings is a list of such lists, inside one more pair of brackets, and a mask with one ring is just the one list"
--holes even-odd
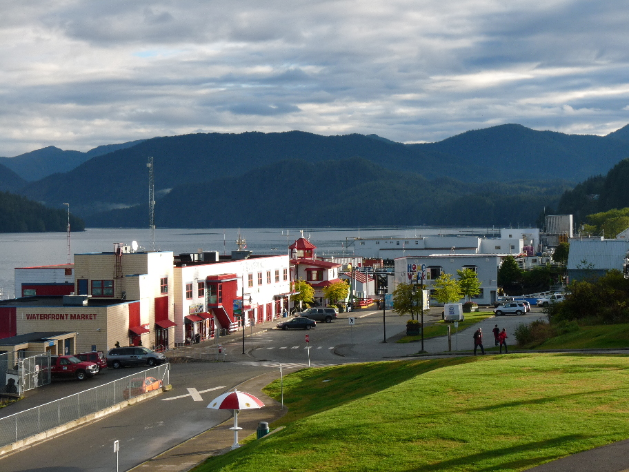
[[(351, 158), (312, 164), (292, 159), (179, 185), (157, 202), (159, 227), (532, 224), (561, 182), (486, 185), (429, 181)], [(206, 192), (204, 189), (211, 189)], [(86, 218), (88, 226), (148, 226), (148, 204)]]

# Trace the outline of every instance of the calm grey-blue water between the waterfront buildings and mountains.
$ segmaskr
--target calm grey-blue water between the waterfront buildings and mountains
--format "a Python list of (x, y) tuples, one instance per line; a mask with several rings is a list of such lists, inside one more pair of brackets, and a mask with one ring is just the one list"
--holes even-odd
[[(288, 246), (301, 236), (301, 228), (241, 228), (247, 240), (247, 249), (254, 254), (288, 254)], [(341, 254), (346, 238), (354, 237), (419, 237), (443, 233), (441, 228), (310, 228), (303, 235), (317, 246), (317, 255)], [(158, 229), (155, 232), (155, 248), (172, 250), (175, 254), (196, 253), (198, 249), (218, 250), (230, 254), (236, 250), (239, 230), (228, 229)], [(486, 228), (449, 229), (447, 233), (489, 233)], [(112, 251), (113, 243), (131, 244), (150, 249), (150, 234), (145, 228), (88, 228), (72, 233), (72, 261), (75, 253), (99, 253)], [(352, 253), (352, 247), (346, 253)], [(68, 245), (66, 233), (0, 233), (0, 298), (14, 295), (14, 268), (66, 264)]]

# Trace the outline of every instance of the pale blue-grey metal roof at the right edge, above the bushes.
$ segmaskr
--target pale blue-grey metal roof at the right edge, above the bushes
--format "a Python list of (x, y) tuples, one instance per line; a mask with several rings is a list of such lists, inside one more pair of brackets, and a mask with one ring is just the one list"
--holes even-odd
[(609, 270), (622, 271), (623, 259), (629, 250), (626, 239), (570, 239), (569, 271)]

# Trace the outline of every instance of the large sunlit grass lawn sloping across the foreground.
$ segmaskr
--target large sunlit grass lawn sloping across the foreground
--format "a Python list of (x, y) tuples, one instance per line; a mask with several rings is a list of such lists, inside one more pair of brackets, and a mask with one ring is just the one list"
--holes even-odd
[(285, 377), (284, 402), (271, 426), (285, 429), (194, 472), (522, 471), (629, 437), (629, 363), (533, 353), (312, 368)]

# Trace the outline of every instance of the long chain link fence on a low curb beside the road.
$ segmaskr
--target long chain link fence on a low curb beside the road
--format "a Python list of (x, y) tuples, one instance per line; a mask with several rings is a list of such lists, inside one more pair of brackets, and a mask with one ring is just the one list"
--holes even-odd
[(0, 447), (114, 406), (170, 384), (170, 364), (149, 368), (108, 384), (0, 418)]

